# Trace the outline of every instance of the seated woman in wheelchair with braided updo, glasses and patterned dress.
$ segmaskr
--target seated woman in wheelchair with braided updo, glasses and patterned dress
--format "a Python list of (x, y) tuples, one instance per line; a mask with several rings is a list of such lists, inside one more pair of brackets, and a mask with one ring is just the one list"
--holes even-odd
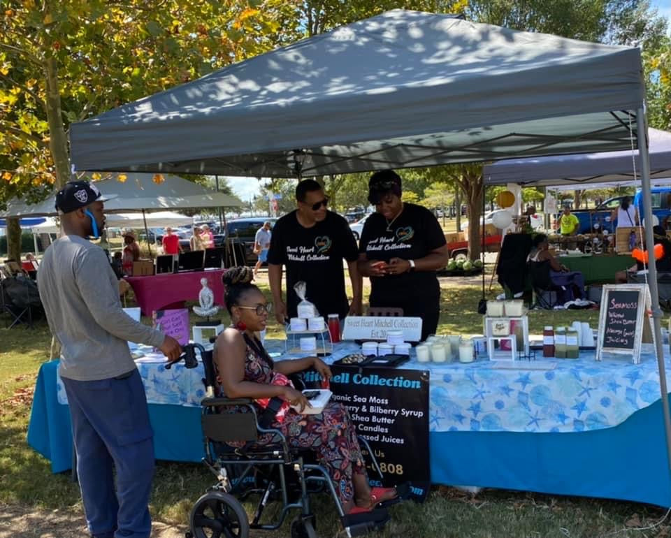
[(231, 268), (223, 277), (231, 326), (215, 344), (214, 362), (222, 393), (227, 398), (253, 398), (259, 414), (270, 398), (283, 400), (270, 428), (280, 430), (290, 446), (315, 451), (331, 475), (345, 514), (369, 511), (394, 499), (394, 488), (368, 486), (356, 431), (344, 405), (329, 402), (322, 413), (301, 414), (310, 403), (287, 376), (314, 368), (323, 379), (331, 379), (331, 369), (317, 357), (279, 362), (270, 358), (255, 335), (266, 328), (270, 304), (252, 284), (252, 277), (248, 267)]

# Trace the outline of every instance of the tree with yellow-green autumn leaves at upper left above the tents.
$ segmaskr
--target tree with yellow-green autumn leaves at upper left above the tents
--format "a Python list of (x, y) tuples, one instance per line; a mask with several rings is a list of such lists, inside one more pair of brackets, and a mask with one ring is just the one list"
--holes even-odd
[[(284, 0), (3, 6), (0, 204), (39, 198), (70, 179), (71, 122), (287, 43), (298, 24)], [(8, 232), (16, 237), (15, 227)]]

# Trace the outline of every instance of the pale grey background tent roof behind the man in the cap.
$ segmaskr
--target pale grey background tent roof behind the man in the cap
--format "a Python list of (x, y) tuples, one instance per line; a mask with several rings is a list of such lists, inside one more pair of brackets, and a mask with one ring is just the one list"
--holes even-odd
[[(212, 191), (176, 175), (164, 175), (164, 182), (155, 183), (152, 174), (131, 173), (125, 182), (116, 177), (96, 182), (103, 195), (114, 196), (105, 203), (106, 213), (164, 211), (177, 208), (235, 208), (243, 203), (235, 196)], [(0, 217), (56, 215), (55, 194), (45, 201), (27, 205), (10, 201)]]

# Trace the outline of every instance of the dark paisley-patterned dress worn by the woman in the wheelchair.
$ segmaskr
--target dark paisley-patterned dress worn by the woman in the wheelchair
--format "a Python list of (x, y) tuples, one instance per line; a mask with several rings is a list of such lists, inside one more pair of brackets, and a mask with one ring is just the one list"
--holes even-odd
[[(245, 381), (270, 384), (276, 372), (270, 358), (262, 358), (247, 344), (245, 357)], [(259, 407), (259, 413), (262, 409)], [(356, 430), (347, 408), (337, 402), (329, 402), (319, 414), (300, 414), (289, 408), (282, 422), (273, 422), (270, 428), (282, 432), (289, 446), (307, 449), (317, 454), (319, 463), (326, 467), (333, 480), (340, 502), (354, 497), (352, 473), (364, 474), (363, 463)], [(259, 442), (273, 442), (270, 436), (259, 438)], [(236, 443), (229, 443), (237, 446)]]

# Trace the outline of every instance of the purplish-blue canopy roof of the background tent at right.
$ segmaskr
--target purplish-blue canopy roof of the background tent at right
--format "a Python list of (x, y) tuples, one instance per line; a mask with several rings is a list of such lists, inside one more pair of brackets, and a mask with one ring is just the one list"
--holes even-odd
[[(671, 133), (648, 129), (650, 177), (671, 175)], [(588, 154), (554, 155), (509, 159), (484, 167), (486, 184), (521, 183), (527, 187), (558, 187), (574, 189), (589, 187), (587, 183), (633, 184), (634, 159), (636, 177), (640, 176), (638, 150)], [(612, 185), (610, 185), (612, 186)]]

